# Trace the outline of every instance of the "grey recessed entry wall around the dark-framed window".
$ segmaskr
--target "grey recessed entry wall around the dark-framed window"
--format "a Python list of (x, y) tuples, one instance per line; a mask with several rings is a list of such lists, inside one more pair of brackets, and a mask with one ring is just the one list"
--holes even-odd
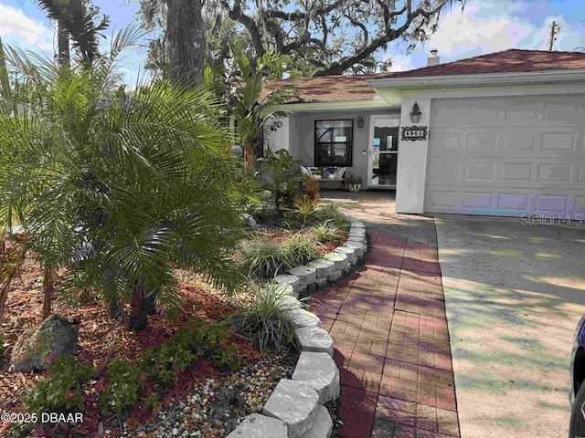
[[(389, 111), (389, 110), (388, 110)], [(394, 110), (394, 113), (398, 111)], [(363, 176), (367, 188), (367, 160), (369, 151), (369, 126), (372, 114), (383, 114), (383, 110), (366, 112), (364, 110), (335, 111), (321, 113), (297, 113), (290, 116), (290, 146), (293, 158), (307, 166), (314, 166), (314, 121), (315, 120), (354, 120), (354, 144), (352, 166), (348, 171)], [(357, 118), (364, 118), (364, 126), (357, 128)]]

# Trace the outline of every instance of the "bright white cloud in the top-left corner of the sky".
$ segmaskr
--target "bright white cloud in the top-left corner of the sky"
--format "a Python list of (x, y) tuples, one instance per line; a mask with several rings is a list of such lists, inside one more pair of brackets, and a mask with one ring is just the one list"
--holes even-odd
[(22, 9), (0, 4), (0, 36), (22, 39), (41, 49), (53, 48), (52, 31), (27, 16)]

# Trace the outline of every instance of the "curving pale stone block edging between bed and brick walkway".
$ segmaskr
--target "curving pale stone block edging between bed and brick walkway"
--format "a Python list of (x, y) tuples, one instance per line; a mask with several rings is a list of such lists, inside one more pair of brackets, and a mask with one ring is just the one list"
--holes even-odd
[(364, 224), (348, 215), (346, 219), (351, 227), (345, 244), (306, 266), (293, 267), (287, 274), (274, 278), (277, 290), (282, 293), (282, 308), (293, 319), (301, 356), (293, 379), (278, 382), (262, 414), (247, 416), (228, 438), (329, 438), (333, 433), (333, 421), (323, 406), (339, 398), (333, 339), (319, 328), (319, 318), (302, 308), (298, 297), (309, 287), (320, 288), (346, 276), (366, 255)]

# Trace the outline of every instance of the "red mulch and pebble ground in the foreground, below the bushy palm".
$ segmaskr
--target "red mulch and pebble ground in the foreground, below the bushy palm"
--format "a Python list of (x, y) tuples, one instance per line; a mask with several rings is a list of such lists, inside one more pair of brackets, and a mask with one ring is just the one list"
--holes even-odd
[[(96, 403), (100, 391), (107, 384), (107, 363), (113, 357), (140, 361), (147, 349), (159, 349), (188, 321), (219, 321), (229, 318), (239, 303), (249, 301), (249, 294), (226, 297), (188, 271), (176, 271), (180, 278), (181, 313), (176, 319), (152, 318), (141, 331), (130, 331), (122, 321), (110, 318), (107, 304), (91, 299), (71, 306), (59, 297), (53, 302), (54, 313), (71, 321), (79, 332), (76, 356), (81, 364), (91, 365), (95, 374), (82, 386), (80, 400), (85, 408), (83, 423), (71, 428), (70, 436), (226, 436), (239, 420), (253, 412), (260, 412), (276, 383), (290, 378), (295, 355), (271, 355), (262, 358), (259, 349), (238, 333), (229, 335), (236, 347), (234, 359), (241, 361), (237, 370), (222, 370), (206, 359), (197, 360), (177, 375), (175, 382), (165, 389), (158, 401), (152, 396), (154, 381), (148, 378), (140, 394), (140, 401), (130, 412), (118, 417), (101, 413)], [(40, 322), (42, 308), (42, 271), (31, 257), (27, 257), (21, 275), (13, 285), (5, 310), (4, 365), (0, 371), (0, 410), (27, 412), (22, 396), (38, 382), (46, 379), (41, 373), (8, 370), (10, 351), (18, 336), (28, 327)], [(143, 377), (144, 379), (144, 377)], [(150, 406), (149, 404), (149, 395)], [(123, 420), (121, 420), (123, 419)], [(65, 436), (61, 424), (47, 430), (43, 436)], [(0, 434), (8, 435), (9, 423), (1, 425)], [(186, 431), (197, 431), (189, 432)], [(16, 434), (16, 430), (13, 430)], [(32, 433), (28, 431), (28, 433)], [(23, 434), (25, 430), (23, 430)], [(33, 433), (34, 435), (35, 433)], [(176, 436), (175, 435), (175, 436)]]

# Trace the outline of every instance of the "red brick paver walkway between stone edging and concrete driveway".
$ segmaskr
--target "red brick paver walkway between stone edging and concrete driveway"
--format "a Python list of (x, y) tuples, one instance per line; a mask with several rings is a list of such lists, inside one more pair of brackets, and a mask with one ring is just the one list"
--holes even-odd
[(345, 438), (459, 437), (436, 245), (368, 229), (361, 272), (314, 294), (334, 339)]

